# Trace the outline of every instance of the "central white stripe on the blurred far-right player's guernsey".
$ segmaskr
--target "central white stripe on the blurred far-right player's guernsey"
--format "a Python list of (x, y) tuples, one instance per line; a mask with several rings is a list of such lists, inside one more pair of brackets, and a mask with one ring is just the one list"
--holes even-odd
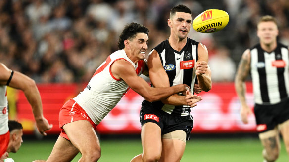
[(272, 68), (272, 62), (275, 61), (275, 52), (267, 53), (264, 52), (265, 64), (266, 67), (266, 81), (267, 81), (267, 89), (269, 102), (277, 103), (280, 102), (280, 93), (278, 88), (278, 74), (277, 68)]

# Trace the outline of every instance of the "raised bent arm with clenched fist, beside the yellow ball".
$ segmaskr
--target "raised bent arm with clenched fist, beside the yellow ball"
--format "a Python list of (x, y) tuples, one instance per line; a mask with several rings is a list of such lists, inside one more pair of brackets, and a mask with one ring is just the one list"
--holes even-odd
[(198, 61), (195, 64), (195, 73), (199, 87), (208, 92), (212, 88), (211, 69), (208, 65), (209, 55), (205, 45), (198, 44)]

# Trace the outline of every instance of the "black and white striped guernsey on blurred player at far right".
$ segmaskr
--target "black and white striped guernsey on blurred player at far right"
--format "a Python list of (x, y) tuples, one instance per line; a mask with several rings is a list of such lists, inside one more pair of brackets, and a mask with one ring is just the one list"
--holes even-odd
[(278, 43), (272, 52), (257, 44), (250, 49), (254, 101), (270, 105), (289, 97), (288, 47)]

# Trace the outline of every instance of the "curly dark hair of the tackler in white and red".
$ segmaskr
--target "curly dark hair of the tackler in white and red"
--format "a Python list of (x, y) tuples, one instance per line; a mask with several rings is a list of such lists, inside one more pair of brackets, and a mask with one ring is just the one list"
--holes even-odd
[(130, 23), (127, 24), (123, 31), (121, 32), (121, 34), (119, 35), (119, 40), (118, 40), (118, 49), (124, 49), (125, 45), (124, 45), (124, 41), (131, 39), (131, 38), (135, 38), (137, 33), (145, 33), (148, 35), (148, 29), (143, 26), (142, 24), (138, 24), (138, 23)]

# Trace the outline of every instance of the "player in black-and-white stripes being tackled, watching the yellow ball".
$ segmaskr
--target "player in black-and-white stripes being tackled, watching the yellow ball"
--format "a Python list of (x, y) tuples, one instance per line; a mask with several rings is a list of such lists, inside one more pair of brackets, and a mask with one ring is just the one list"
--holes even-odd
[[(148, 56), (148, 69), (154, 87), (185, 83), (196, 89), (211, 89), (211, 71), (204, 45), (187, 37), (192, 25), (191, 10), (178, 5), (172, 8), (168, 26), (170, 37)], [(131, 162), (179, 162), (190, 139), (193, 117), (190, 107), (173, 95), (158, 102), (144, 100), (140, 112), (143, 154)]]

